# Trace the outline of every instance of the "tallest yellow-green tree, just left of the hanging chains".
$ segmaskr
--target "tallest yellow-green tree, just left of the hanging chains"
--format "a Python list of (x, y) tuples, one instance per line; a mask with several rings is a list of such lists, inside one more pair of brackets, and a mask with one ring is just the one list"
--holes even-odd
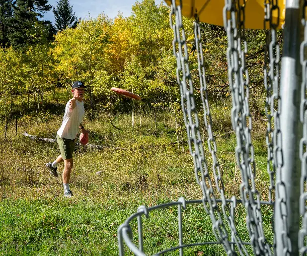
[[(140, 94), (154, 108), (163, 106), (170, 99), (179, 101), (177, 80), (172, 76), (176, 61), (172, 51), (173, 31), (169, 25), (168, 7), (156, 6), (155, 1), (145, 0), (136, 3), (132, 11), (128, 22), (131, 24), (129, 46), (133, 54), (126, 59), (122, 84), (127, 90)], [(192, 21), (186, 21), (189, 35)], [(165, 83), (163, 72), (166, 71), (171, 83)]]

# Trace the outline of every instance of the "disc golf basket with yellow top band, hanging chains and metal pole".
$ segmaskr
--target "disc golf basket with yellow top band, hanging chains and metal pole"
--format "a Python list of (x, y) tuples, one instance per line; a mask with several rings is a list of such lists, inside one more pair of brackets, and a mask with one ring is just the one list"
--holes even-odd
[[(203, 197), (202, 200), (195, 201), (185, 201), (180, 198), (177, 202), (149, 208), (140, 206), (137, 213), (131, 215), (118, 228), (119, 254), (124, 255), (126, 250), (135, 255), (146, 255), (142, 217), (150, 218), (158, 209), (174, 206), (178, 207), (176, 225), (178, 225), (179, 243), (155, 255), (167, 252), (183, 255), (187, 247), (212, 246), (212, 244), (220, 244), (227, 255), (305, 254), (307, 252), (307, 23), (305, 21), (307, 0), (172, 0), (172, 3), (168, 4), (171, 6), (170, 23), (174, 30), (173, 48), (177, 58), (177, 81), (181, 91), (181, 105), (189, 149), (194, 161), (195, 177)], [(182, 15), (195, 19), (200, 94), (212, 168), (207, 166), (204, 156), (205, 144), (202, 143), (199, 131)], [(240, 199), (235, 196), (225, 199), (224, 196), (224, 185), (216, 156), (217, 146), (211, 129), (212, 118), (199, 21), (223, 25), (227, 32), (228, 83), (233, 105), (231, 120), (237, 138), (235, 150), (237, 166), (241, 173)], [(267, 202), (261, 201), (255, 185), (256, 167), (251, 140), (249, 73), (245, 61), (248, 52), (245, 37), (247, 28), (265, 29), (266, 33), (264, 86), (268, 120), (267, 171), (270, 177)], [(283, 29), (281, 64), (276, 34), (276, 29), (279, 28)], [(210, 217), (215, 240), (186, 244), (183, 239), (183, 211), (187, 205), (199, 203)], [(238, 204), (244, 206), (245, 220), (236, 219)], [(268, 242), (263, 229), (261, 212), (263, 205), (271, 207), (273, 212), (274, 241), (271, 243)], [(133, 225), (131, 225), (134, 220), (137, 222), (136, 238), (133, 238)], [(246, 225), (247, 232), (238, 231), (238, 221)]]

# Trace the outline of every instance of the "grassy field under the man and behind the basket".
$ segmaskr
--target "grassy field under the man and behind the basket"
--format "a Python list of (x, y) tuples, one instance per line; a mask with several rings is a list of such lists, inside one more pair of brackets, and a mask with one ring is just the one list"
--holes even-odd
[[(213, 106), (218, 158), (221, 164), (226, 197), (239, 197), (240, 171), (235, 164), (236, 138), (225, 121), (227, 111)], [(0, 254), (2, 255), (117, 255), (117, 228), (138, 206), (147, 207), (177, 201), (201, 199), (194, 177), (188, 145), (178, 150), (175, 120), (161, 114), (157, 130), (152, 116), (135, 118), (119, 114), (113, 124), (101, 114), (85, 119), (91, 131), (90, 143), (105, 149), (76, 148), (70, 187), (71, 199), (63, 198), (61, 178), (53, 178), (45, 163), (59, 154), (55, 143), (32, 141), (22, 135), (54, 138), (62, 116), (45, 113), (24, 116), (19, 133), (9, 127), (8, 138), (0, 138)], [(225, 131), (229, 131), (226, 132)], [(256, 123), (253, 134), (257, 161), (257, 180), (262, 200), (268, 199), (266, 173), (265, 126)], [(0, 131), (3, 132), (3, 131)], [(206, 151), (208, 166), (210, 155)], [(59, 173), (63, 165), (59, 166)], [(100, 172), (100, 174), (96, 174)], [(272, 209), (263, 207), (265, 233), (272, 242)], [(236, 224), (243, 240), (248, 239), (245, 213), (238, 207)], [(214, 235), (209, 216), (202, 205), (184, 210), (184, 243), (212, 241)], [(136, 223), (134, 241), (137, 242)], [(178, 245), (177, 210), (166, 208), (144, 219), (144, 248), (152, 254)], [(126, 250), (127, 254), (130, 253)], [(203, 253), (203, 254), (202, 254)], [(178, 255), (178, 251), (169, 253)], [(169, 255), (168, 254), (168, 255)], [(219, 245), (185, 249), (185, 255), (222, 255)]]

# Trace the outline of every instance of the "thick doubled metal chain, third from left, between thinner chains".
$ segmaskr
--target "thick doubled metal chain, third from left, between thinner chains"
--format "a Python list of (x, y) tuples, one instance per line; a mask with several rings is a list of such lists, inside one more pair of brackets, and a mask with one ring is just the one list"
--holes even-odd
[[(241, 2), (242, 5), (240, 5)], [(228, 80), (233, 101), (232, 124), (237, 135), (236, 157), (242, 177), (240, 194), (247, 211), (246, 224), (254, 254), (271, 255), (272, 252), (263, 233), (260, 196), (256, 190), (254, 179), (256, 166), (254, 147), (251, 141), (252, 118), (248, 102), (249, 75), (245, 63), (245, 54), (247, 53), (246, 0), (241, 2), (240, 0), (225, 0), (223, 9), (224, 27), (228, 38)]]

